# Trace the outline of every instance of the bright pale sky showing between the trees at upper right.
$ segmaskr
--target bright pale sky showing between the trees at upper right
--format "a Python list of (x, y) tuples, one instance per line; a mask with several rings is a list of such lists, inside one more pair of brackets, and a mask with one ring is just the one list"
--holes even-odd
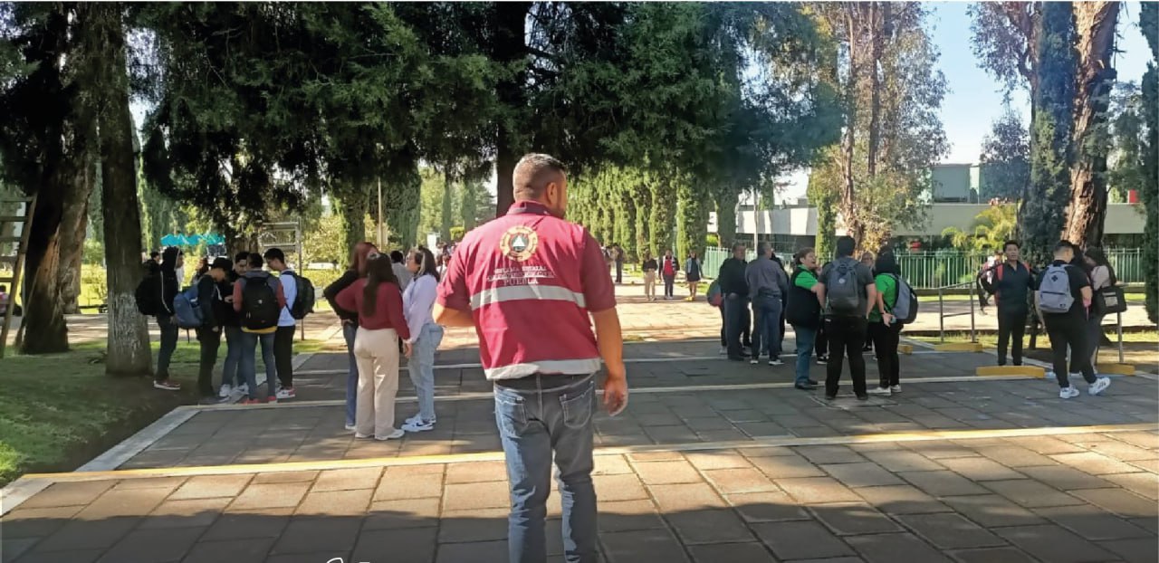
[[(941, 119), (949, 139), (949, 154), (942, 162), (977, 162), (982, 139), (1003, 111), (1001, 85), (978, 67), (970, 47), (970, 16), (967, 7), (972, 2), (928, 2), (933, 13), (928, 19), (934, 43), (941, 51), (939, 67), (946, 75), (949, 93), (942, 100)], [(1118, 53), (1115, 68), (1118, 80), (1138, 82), (1146, 71), (1150, 49), (1139, 31), (1139, 2), (1125, 2), (1118, 15)], [(1030, 119), (1028, 93), (1015, 92), (1012, 105), (1022, 112), (1022, 122)], [(809, 176), (799, 171), (788, 178), (783, 198), (795, 202), (803, 197)], [(780, 200), (780, 198), (779, 198)]]

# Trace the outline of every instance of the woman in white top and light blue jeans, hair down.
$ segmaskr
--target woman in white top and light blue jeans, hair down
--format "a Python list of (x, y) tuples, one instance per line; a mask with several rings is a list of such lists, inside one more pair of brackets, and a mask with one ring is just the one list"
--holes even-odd
[(418, 414), (407, 418), (402, 430), (425, 432), (435, 429), (435, 351), (443, 342), (443, 327), (435, 323), (431, 309), (438, 290), (438, 266), (435, 255), (424, 247), (407, 254), (407, 270), (413, 275), (402, 293), (402, 309), (410, 328), (413, 346), (407, 370), (418, 395)]

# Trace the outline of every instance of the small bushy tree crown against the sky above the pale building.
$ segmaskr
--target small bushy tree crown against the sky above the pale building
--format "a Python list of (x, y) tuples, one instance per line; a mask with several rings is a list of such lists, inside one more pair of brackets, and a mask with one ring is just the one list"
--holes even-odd
[(984, 192), (987, 198), (1018, 200), (1030, 183), (1030, 138), (1019, 115), (1006, 105), (982, 139)]

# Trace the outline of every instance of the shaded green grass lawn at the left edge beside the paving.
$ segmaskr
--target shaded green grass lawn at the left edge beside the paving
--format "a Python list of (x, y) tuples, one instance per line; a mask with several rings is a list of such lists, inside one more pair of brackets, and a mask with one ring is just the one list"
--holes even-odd
[[(294, 342), (298, 353), (345, 350), (334, 348)], [(173, 354), (180, 393), (154, 389), (148, 378), (105, 376), (103, 353), (104, 343), (92, 342), (68, 353), (0, 360), (0, 487), (25, 473), (73, 470), (175, 407), (197, 402), (196, 339), (182, 335)], [(223, 343), (217, 373), (224, 357)]]

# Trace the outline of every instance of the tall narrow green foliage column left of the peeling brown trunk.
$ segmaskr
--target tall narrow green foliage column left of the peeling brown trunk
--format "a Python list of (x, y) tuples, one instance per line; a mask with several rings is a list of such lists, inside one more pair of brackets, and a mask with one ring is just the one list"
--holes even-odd
[(1044, 2), (1038, 22), (1038, 88), (1032, 104), (1030, 188), (1019, 225), (1022, 253), (1033, 264), (1049, 259), (1063, 229), (1070, 197), (1071, 116), (1074, 103), (1074, 17), (1067, 2)]

